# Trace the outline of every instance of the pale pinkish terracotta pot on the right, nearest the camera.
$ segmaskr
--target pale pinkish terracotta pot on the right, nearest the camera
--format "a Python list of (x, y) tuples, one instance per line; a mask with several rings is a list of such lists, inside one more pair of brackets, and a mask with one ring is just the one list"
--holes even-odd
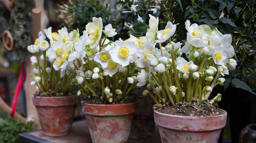
[(217, 143), (226, 125), (227, 112), (208, 117), (169, 115), (154, 110), (162, 143)]

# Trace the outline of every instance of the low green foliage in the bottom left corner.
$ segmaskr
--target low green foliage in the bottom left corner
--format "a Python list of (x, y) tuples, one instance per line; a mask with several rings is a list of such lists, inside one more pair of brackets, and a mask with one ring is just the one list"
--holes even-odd
[(33, 122), (25, 126), (21, 120), (4, 114), (0, 116), (0, 143), (17, 143), (18, 134), (31, 131)]

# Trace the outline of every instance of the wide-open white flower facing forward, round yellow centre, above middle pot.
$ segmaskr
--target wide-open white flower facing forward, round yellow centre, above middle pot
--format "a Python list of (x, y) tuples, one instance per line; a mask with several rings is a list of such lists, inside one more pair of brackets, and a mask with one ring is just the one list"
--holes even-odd
[(137, 60), (137, 56), (134, 56), (136, 49), (134, 42), (117, 40), (115, 46), (109, 50), (109, 54), (114, 62), (124, 67)]

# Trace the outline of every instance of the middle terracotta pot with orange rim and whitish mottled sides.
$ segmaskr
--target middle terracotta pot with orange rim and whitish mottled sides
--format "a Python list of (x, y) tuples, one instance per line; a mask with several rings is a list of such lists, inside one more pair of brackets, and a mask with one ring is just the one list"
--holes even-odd
[(93, 143), (127, 143), (137, 102), (81, 105)]

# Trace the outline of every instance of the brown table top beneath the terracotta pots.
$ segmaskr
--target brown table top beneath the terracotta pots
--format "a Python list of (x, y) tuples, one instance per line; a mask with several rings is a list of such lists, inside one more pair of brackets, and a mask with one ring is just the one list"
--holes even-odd
[[(43, 135), (42, 130), (19, 134), (19, 143), (92, 143), (86, 120), (75, 121), (71, 133), (64, 136), (50, 137)], [(147, 138), (129, 138), (128, 143), (161, 143), (158, 127), (155, 133)]]

